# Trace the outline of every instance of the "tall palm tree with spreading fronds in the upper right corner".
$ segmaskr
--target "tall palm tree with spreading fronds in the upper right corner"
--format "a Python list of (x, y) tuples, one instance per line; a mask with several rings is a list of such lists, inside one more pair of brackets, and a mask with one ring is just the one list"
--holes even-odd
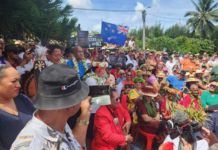
[(193, 0), (196, 11), (188, 11), (185, 14), (187, 16), (193, 16), (187, 21), (187, 30), (191, 30), (192, 33), (200, 34), (201, 38), (211, 37), (213, 31), (216, 29), (213, 22), (218, 21), (218, 2), (214, 3), (214, 0), (199, 0), (197, 5)]

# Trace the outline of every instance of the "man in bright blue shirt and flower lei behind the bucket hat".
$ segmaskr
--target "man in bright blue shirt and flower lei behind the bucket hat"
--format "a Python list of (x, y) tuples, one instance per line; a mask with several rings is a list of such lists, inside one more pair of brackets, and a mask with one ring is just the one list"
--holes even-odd
[(74, 67), (78, 72), (79, 78), (81, 79), (81, 77), (90, 67), (84, 59), (83, 49), (80, 46), (76, 46), (74, 48), (73, 55), (74, 57), (67, 62), (67, 65)]

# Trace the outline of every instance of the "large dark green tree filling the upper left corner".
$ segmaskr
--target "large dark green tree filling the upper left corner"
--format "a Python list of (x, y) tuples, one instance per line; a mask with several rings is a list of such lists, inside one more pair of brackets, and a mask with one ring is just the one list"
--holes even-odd
[(68, 18), (72, 12), (72, 6), (63, 6), (62, 0), (1, 0), (0, 34), (17, 39), (25, 35), (42, 43), (65, 41), (77, 22), (77, 18)]

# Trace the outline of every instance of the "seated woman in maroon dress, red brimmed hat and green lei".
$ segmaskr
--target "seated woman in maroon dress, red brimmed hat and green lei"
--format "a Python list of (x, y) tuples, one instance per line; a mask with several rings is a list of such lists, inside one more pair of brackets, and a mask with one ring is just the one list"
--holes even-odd
[(162, 143), (167, 135), (167, 130), (166, 121), (160, 120), (159, 108), (152, 100), (152, 97), (158, 95), (157, 90), (146, 85), (142, 87), (142, 95), (142, 100), (136, 103), (139, 127), (144, 132), (155, 134), (157, 142)]

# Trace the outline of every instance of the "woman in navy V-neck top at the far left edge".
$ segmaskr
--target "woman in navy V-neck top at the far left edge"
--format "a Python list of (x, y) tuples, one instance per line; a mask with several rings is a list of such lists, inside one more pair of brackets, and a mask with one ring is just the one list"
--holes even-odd
[(9, 150), (19, 132), (36, 110), (19, 93), (20, 75), (11, 66), (0, 65), (0, 149)]

